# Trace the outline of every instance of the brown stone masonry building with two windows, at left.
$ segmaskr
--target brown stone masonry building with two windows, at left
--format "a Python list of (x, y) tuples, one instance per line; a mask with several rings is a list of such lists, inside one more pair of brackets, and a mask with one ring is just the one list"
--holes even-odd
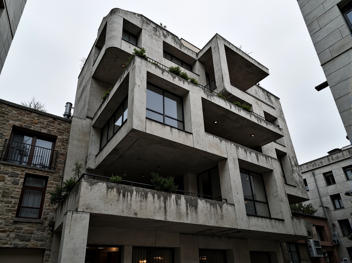
[(0, 100), (0, 262), (49, 262), (71, 121)]

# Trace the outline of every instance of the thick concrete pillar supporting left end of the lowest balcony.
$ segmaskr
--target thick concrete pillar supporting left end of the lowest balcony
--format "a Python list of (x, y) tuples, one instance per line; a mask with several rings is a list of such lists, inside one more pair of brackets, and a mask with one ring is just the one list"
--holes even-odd
[(58, 263), (84, 263), (89, 213), (67, 211), (64, 216)]

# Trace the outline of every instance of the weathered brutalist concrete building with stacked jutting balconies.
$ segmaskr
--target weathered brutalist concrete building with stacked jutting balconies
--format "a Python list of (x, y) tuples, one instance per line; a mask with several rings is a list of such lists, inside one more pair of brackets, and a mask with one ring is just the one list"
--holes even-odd
[(218, 34), (198, 49), (112, 9), (78, 77), (64, 179), (75, 161), (86, 174), (57, 207), (50, 262), (282, 262), (280, 242), (312, 230), (291, 216), (308, 195), (268, 75)]

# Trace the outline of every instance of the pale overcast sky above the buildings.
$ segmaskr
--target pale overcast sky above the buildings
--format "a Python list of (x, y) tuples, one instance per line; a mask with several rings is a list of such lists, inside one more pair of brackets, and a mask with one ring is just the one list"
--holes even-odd
[(91, 1), (29, 0), (0, 75), (0, 98), (36, 97), (62, 116), (74, 103), (80, 59), (87, 57), (101, 20), (122, 8), (162, 22), (200, 49), (220, 34), (269, 68), (260, 85), (279, 98), (298, 162), (349, 144), (296, 0)]

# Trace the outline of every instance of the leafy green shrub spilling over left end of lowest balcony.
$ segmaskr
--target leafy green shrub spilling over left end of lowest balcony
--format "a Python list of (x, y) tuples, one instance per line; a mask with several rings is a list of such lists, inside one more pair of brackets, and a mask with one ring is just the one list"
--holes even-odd
[(54, 187), (54, 191), (48, 191), (50, 194), (50, 204), (58, 205), (70, 194), (71, 190), (78, 185), (77, 180), (80, 178), (83, 164), (75, 162), (75, 168), (72, 169), (73, 176), (62, 182), (61, 185)]

